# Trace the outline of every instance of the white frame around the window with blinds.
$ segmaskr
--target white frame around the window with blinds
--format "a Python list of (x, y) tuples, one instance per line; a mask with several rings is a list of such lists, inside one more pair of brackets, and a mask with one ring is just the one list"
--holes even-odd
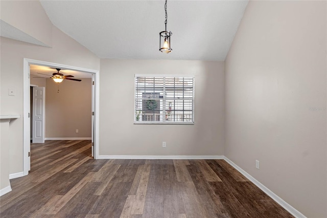
[[(136, 121), (136, 77), (182, 77), (182, 78), (192, 78), (193, 79), (193, 92), (192, 92), (192, 121)], [(165, 80), (165, 79), (164, 79)], [(165, 90), (166, 86), (164, 87)], [(163, 97), (163, 102), (165, 102), (166, 97)], [(182, 124), (182, 125), (194, 125), (195, 124), (195, 113), (194, 113), (194, 104), (195, 102), (195, 75), (192, 74), (134, 74), (134, 124)], [(166, 110), (163, 110), (165, 112)]]

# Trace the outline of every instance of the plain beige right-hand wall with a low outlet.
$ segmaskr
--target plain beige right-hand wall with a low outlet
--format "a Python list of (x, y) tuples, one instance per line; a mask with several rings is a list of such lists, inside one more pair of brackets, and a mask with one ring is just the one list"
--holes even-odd
[(308, 217), (327, 217), (326, 70), (325, 1), (249, 2), (225, 61), (225, 156)]

